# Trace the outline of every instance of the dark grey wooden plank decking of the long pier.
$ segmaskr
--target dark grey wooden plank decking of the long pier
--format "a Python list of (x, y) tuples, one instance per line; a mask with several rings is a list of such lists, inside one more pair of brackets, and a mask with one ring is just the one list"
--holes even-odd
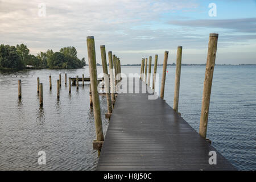
[(97, 170), (236, 170), (166, 102), (118, 94)]

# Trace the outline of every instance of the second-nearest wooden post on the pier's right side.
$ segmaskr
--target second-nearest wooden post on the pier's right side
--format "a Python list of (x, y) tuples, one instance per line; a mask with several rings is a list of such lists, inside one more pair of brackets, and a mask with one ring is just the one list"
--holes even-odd
[(182, 56), (182, 46), (178, 46), (177, 57), (176, 57), (175, 86), (174, 86), (174, 110), (176, 112), (178, 111), (178, 106), (179, 106), (181, 56)]

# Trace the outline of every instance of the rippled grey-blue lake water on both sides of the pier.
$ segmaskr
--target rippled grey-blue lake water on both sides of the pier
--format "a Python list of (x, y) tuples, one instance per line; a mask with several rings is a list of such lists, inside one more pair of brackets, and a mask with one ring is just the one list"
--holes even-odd
[[(122, 73), (138, 73), (140, 67), (122, 67)], [(168, 67), (164, 99), (172, 106), (175, 67)], [(62, 73), (60, 100), (56, 80)], [(89, 85), (71, 94), (64, 73), (75, 77), (84, 69), (28, 69), (0, 72), (0, 169), (1, 170), (93, 170), (97, 151), (93, 111), (89, 106)], [(98, 67), (98, 73), (102, 68)], [(159, 80), (162, 67), (158, 67)], [(199, 131), (205, 66), (181, 68), (179, 112)], [(49, 74), (52, 90), (49, 90)], [(36, 77), (43, 83), (43, 107), (39, 106)], [(18, 99), (18, 79), (22, 79), (22, 100)], [(106, 99), (100, 96), (104, 133)], [(210, 100), (207, 138), (240, 170), (256, 169), (256, 66), (216, 66)], [(38, 152), (46, 152), (46, 165), (38, 164)]]

